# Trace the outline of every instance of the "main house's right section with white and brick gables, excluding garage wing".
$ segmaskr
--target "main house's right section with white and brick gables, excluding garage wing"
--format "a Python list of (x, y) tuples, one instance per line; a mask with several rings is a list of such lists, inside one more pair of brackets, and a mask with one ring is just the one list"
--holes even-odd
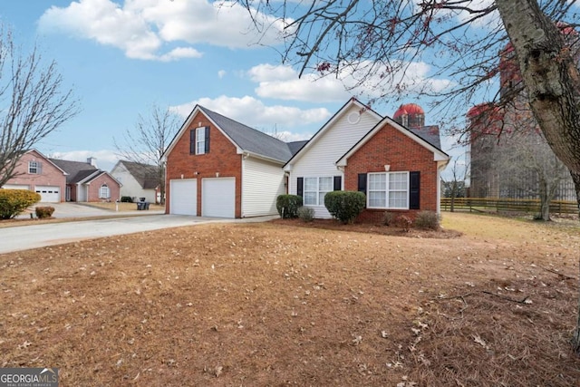
[(440, 150), (439, 128), (407, 129), (355, 99), (343, 105), (285, 164), (290, 194), (304, 198), (315, 218), (331, 218), (324, 195), (358, 190), (366, 195), (362, 221), (386, 210), (440, 212), (440, 172), (449, 156)]

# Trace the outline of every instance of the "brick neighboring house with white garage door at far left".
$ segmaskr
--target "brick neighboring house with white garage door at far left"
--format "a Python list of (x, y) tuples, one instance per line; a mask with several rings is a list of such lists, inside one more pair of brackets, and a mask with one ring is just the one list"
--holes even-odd
[(38, 150), (28, 150), (14, 169), (16, 176), (3, 189), (29, 189), (40, 194), (41, 202), (64, 201), (66, 172)]

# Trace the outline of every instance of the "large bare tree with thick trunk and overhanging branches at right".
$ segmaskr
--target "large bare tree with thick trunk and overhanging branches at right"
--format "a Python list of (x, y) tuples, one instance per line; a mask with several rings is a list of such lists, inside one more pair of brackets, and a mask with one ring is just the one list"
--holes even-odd
[[(439, 97), (438, 106), (461, 111), (481, 102), (499, 73), (497, 55), (509, 42), (519, 75), (508, 95), (488, 94), (499, 104), (525, 93), (527, 103), (558, 159), (575, 182), (580, 207), (580, 73), (577, 68), (575, 1), (561, 0), (422, 0), (270, 2), (238, 0), (285, 22), (284, 60), (321, 74), (344, 73), (357, 84), (374, 86), (381, 97), (391, 91)], [(480, 28), (485, 24), (487, 28)], [(271, 25), (271, 24), (270, 24)], [(449, 58), (446, 60), (446, 58)], [(431, 75), (452, 81), (440, 92), (420, 83), (402, 82), (413, 63), (437, 68)], [(488, 90), (488, 92), (490, 92)], [(380, 97), (379, 97), (380, 98)], [(448, 110), (449, 111), (449, 110)], [(580, 353), (580, 297), (575, 351)]]

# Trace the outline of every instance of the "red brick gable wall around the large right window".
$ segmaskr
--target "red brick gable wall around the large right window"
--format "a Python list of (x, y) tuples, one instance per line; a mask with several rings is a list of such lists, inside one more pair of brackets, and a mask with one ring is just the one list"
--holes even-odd
[[(384, 172), (384, 166), (390, 165), (390, 171), (420, 171), (420, 209), (389, 210), (414, 218), (420, 210), (437, 211), (437, 162), (433, 152), (421, 146), (391, 127), (385, 125), (357, 150), (344, 169), (344, 189), (358, 189), (358, 174)], [(357, 218), (360, 222), (380, 222), (384, 209), (364, 209)]]

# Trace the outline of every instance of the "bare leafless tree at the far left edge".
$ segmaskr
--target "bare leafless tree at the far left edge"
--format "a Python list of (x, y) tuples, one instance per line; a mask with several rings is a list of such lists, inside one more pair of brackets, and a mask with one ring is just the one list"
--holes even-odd
[(56, 63), (43, 65), (36, 45), (23, 53), (0, 24), (0, 187), (17, 175), (26, 151), (79, 112), (77, 105)]

